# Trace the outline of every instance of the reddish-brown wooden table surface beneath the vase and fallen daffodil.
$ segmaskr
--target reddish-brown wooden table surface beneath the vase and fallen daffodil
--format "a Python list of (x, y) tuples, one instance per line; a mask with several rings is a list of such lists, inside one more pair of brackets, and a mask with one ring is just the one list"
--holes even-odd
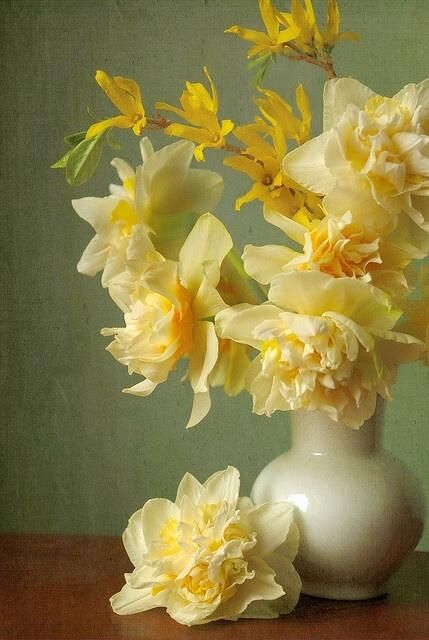
[(119, 538), (0, 536), (0, 640), (429, 639), (429, 553), (414, 553), (388, 596), (367, 602), (301, 597), (280, 620), (183, 627), (162, 609), (117, 616), (109, 596), (130, 565)]

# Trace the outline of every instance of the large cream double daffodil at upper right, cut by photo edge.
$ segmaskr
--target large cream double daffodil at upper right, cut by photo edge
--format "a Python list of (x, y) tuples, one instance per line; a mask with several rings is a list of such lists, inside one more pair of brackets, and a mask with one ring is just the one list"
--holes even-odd
[(283, 168), (325, 195), (330, 216), (429, 251), (429, 81), (393, 98), (352, 78), (327, 82), (324, 132), (291, 151)]

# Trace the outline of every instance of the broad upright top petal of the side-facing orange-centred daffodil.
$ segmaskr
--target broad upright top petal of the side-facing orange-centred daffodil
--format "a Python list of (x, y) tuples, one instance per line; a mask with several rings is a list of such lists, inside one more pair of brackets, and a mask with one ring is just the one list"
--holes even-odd
[(186, 289), (196, 293), (204, 275), (216, 287), (220, 265), (232, 246), (231, 236), (220, 220), (210, 213), (200, 216), (179, 254), (179, 275)]

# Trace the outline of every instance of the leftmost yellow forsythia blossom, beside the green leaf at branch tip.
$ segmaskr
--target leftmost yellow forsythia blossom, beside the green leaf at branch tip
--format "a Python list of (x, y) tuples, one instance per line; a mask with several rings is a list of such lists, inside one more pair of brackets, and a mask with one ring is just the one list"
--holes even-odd
[(86, 132), (86, 138), (93, 138), (111, 127), (132, 129), (137, 136), (140, 135), (146, 126), (146, 115), (137, 83), (121, 76), (112, 78), (105, 71), (97, 71), (95, 80), (122, 115), (91, 125)]

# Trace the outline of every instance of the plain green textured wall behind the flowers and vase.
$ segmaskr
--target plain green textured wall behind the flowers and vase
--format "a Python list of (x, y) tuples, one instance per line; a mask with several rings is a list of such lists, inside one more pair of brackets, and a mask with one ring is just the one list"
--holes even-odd
[[(361, 43), (340, 43), (340, 75), (391, 95), (428, 75), (427, 0), (342, 0), (343, 25)], [(325, 3), (315, 1), (317, 9)], [(104, 195), (114, 178), (104, 157), (96, 178), (69, 188), (49, 165), (66, 133), (86, 128), (86, 107), (107, 101), (93, 80), (102, 68), (135, 78), (148, 111), (175, 103), (183, 83), (209, 66), (223, 117), (253, 118), (246, 44), (224, 35), (231, 24), (258, 27), (256, 0), (2, 0), (0, 59), (2, 390), (0, 527), (3, 531), (117, 534), (153, 496), (173, 497), (187, 470), (204, 479), (227, 464), (243, 492), (289, 444), (287, 416), (250, 413), (250, 398), (214, 393), (214, 408), (185, 432), (191, 396), (180, 372), (150, 398), (121, 394), (128, 376), (99, 335), (121, 315), (100, 287), (76, 271), (92, 232), (72, 197)], [(324, 76), (282, 61), (265, 85), (291, 99), (304, 82), (320, 130)], [(137, 162), (135, 139), (118, 154)], [(156, 145), (164, 143), (160, 134)], [(107, 154), (108, 155), (108, 154)], [(221, 169), (221, 153), (208, 167)], [(238, 246), (275, 242), (257, 206), (233, 213), (247, 180), (224, 171), (218, 214)], [(401, 372), (386, 416), (385, 445), (415, 469), (429, 493), (429, 370)], [(429, 530), (421, 542), (429, 548)]]

